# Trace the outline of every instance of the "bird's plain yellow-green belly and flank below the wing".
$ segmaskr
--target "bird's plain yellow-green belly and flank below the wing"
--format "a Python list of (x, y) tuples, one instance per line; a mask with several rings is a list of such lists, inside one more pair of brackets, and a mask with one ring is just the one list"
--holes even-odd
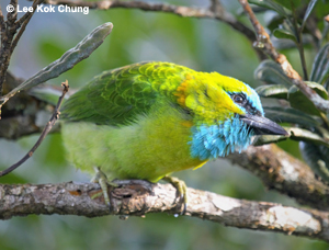
[(63, 138), (68, 159), (83, 171), (101, 167), (110, 179), (156, 182), (205, 163), (191, 158), (191, 126), (180, 111), (163, 106), (122, 127), (63, 123)]

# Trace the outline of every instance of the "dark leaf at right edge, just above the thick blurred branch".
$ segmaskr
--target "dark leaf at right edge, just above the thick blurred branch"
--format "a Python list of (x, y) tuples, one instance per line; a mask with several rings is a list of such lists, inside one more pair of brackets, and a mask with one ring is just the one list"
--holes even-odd
[(306, 141), (299, 141), (303, 159), (315, 173), (329, 182), (329, 148)]

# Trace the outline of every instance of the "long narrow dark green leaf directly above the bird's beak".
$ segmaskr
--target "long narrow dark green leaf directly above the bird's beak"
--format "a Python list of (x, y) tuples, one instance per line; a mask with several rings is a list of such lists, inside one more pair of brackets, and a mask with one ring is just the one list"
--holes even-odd
[(264, 106), (265, 116), (277, 123), (293, 123), (303, 127), (318, 127), (320, 123), (310, 115), (292, 107)]

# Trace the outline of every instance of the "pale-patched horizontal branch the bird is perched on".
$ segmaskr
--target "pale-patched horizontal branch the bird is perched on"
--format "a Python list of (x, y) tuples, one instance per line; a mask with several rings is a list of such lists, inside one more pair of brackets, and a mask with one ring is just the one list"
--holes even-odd
[[(171, 184), (141, 180), (116, 181), (112, 190), (112, 212), (95, 183), (0, 185), (0, 218), (31, 214), (60, 214), (97, 217), (104, 215), (144, 216), (148, 213), (177, 214), (180, 207)], [(226, 226), (279, 231), (329, 241), (329, 214), (250, 202), (211, 192), (188, 189), (186, 215)]]

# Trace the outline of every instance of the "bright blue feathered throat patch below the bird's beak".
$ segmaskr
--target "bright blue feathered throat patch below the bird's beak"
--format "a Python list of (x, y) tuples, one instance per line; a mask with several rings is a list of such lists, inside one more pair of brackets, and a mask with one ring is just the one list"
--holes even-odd
[(191, 156), (200, 160), (225, 157), (235, 150), (246, 149), (251, 144), (252, 129), (236, 115), (223, 124), (192, 127)]

